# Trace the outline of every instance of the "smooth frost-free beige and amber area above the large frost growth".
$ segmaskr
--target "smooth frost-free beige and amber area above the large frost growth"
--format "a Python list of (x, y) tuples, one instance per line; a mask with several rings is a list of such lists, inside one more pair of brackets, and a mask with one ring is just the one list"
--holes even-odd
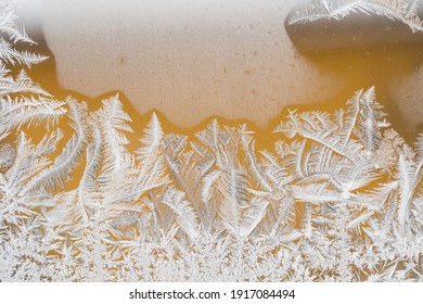
[(156, 111), (166, 131), (190, 134), (218, 116), (267, 129), (266, 143), (286, 107), (338, 109), (376, 85), (389, 122), (413, 140), (423, 122), (421, 48), (381, 46), (371, 64), (350, 50), (305, 56), (284, 29), (296, 2), (43, 0), (20, 14), (35, 50), (51, 56), (31, 72), (43, 88), (92, 110), (119, 91), (136, 126)]

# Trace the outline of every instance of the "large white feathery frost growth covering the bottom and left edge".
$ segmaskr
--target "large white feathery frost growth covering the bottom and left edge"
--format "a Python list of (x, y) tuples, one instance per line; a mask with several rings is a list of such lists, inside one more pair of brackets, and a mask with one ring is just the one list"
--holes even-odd
[(14, 22), (0, 4), (0, 281), (423, 280), (423, 135), (389, 128), (374, 88), (291, 112), (272, 149), (153, 114), (129, 150), (118, 94), (90, 112), (12, 76), (44, 60)]

